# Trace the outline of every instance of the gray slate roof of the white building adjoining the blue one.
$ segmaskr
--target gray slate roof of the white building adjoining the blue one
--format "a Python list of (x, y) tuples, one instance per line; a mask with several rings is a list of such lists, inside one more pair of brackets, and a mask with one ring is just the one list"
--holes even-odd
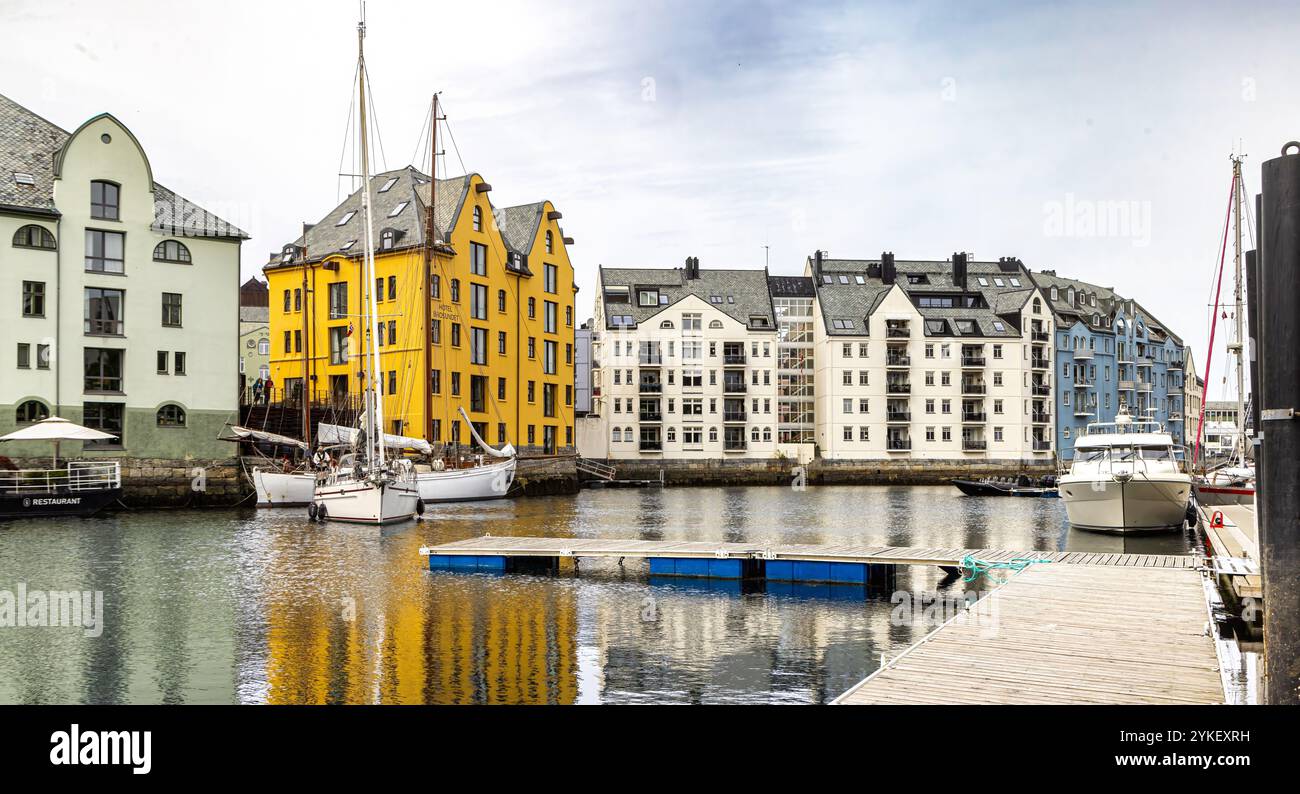
[[(983, 295), (988, 308), (922, 308), (916, 311), (926, 320), (948, 321), (946, 333), (931, 334), (923, 329), (926, 335), (958, 337), (957, 320), (972, 320), (976, 326), (975, 334), (968, 337), (989, 338), (1018, 338), (1020, 335), (1020, 308), (1030, 299), (1034, 291), (1034, 282), (1023, 268), (1004, 270), (1000, 263), (968, 263), (966, 288), (959, 290), (953, 281), (953, 264), (950, 261), (922, 261), (922, 260), (896, 260), (897, 277), (894, 282), (915, 303), (915, 296), (927, 292), (953, 294), (965, 291)], [(848, 277), (849, 283), (841, 283), (840, 275)], [(845, 260), (827, 259), (822, 261), (822, 275), (831, 275), (831, 283), (824, 278), (814, 278), (818, 291), (818, 303), (822, 305), (822, 318), (826, 324), (827, 334), (832, 337), (862, 337), (867, 334), (867, 320), (884, 300), (892, 285), (887, 285), (880, 277), (880, 260)], [(923, 283), (910, 283), (907, 277), (915, 275)], [(863, 283), (858, 283), (858, 278)], [(980, 283), (984, 278), (987, 283)], [(1011, 279), (1018, 283), (1013, 283)], [(997, 281), (1002, 285), (998, 286)], [(833, 320), (848, 320), (852, 329), (837, 329)], [(994, 324), (1001, 324), (998, 330)]]

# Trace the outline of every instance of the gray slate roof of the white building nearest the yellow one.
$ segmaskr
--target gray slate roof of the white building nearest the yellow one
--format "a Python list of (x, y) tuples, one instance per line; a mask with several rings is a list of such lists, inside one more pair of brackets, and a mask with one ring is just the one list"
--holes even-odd
[[(645, 322), (677, 301), (696, 295), (715, 309), (744, 324), (746, 327), (775, 330), (772, 299), (767, 288), (767, 270), (699, 269), (699, 278), (686, 278), (684, 268), (601, 268), (601, 299), (604, 301), (606, 327), (611, 314), (630, 314)], [(607, 287), (629, 287), (627, 303), (611, 303)], [(655, 307), (637, 305), (637, 287), (656, 287), (668, 296), (667, 303)], [(722, 301), (714, 303), (711, 298)], [(760, 316), (766, 326), (751, 326), (750, 317)]]

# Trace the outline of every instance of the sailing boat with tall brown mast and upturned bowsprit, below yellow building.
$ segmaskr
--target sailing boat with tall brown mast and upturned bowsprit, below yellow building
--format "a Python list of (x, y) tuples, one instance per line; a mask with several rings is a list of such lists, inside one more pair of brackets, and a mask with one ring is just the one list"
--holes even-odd
[[(436, 224), (436, 207), (438, 200), (438, 95), (433, 96), (433, 108), (430, 116), (430, 134), (429, 134), (429, 147), (430, 147), (430, 172), (432, 179), (429, 182), (429, 205), (428, 217), (425, 220), (425, 235), (424, 235), (424, 283), (432, 282), (433, 275), (433, 257), (434, 248), (438, 243), (438, 229)], [(432, 318), (433, 303), (432, 296), (425, 300), (426, 312)], [(430, 324), (426, 324), (428, 329)], [(425, 330), (424, 334), (424, 363), (425, 372), (433, 369), (433, 348), (429, 339), (429, 331)], [(446, 361), (443, 361), (443, 368)], [(424, 381), (424, 416), (425, 416), (425, 437), (430, 441), (433, 439), (433, 387), (429, 378), (422, 378)], [(474, 465), (463, 467), (458, 465), (459, 461), (454, 461), (452, 465), (447, 465), (446, 459), (437, 459), (433, 461), (433, 467), (429, 472), (420, 472), (416, 474), (416, 483), (420, 491), (420, 499), (425, 503), (432, 502), (478, 502), (482, 499), (500, 499), (510, 493), (510, 486), (515, 482), (515, 447), (506, 444), (500, 448), (495, 448), (488, 444), (488, 442), (478, 435), (474, 430), (474, 424), (469, 421), (469, 416), (465, 413), (463, 407), (458, 407), (462, 418), (465, 420), (465, 426), (469, 428), (469, 434), (473, 437), (474, 442), (482, 447), (484, 452), (489, 457), (498, 459), (497, 463), (485, 463), (482, 457), (474, 461)]]

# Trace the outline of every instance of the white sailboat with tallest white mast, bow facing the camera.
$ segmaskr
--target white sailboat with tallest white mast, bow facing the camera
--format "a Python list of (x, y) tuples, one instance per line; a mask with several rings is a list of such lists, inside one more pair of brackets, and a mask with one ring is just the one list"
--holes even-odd
[(344, 456), (338, 467), (318, 476), (308, 513), (317, 521), (351, 521), (356, 524), (391, 524), (406, 521), (424, 511), (416, 490), (415, 468), (403, 459), (389, 460), (385, 455), (384, 399), (376, 383), (380, 370), (378, 303), (372, 288), (374, 283), (374, 218), (372, 213), (369, 139), (365, 120), (365, 18), (356, 29), (358, 86), (360, 91), (360, 155), (361, 155), (361, 212), (365, 218), (365, 252), (361, 268), (361, 288), (365, 300), (367, 333), (361, 338), (361, 359), (365, 363), (365, 411), (361, 431), (354, 437), (354, 452)]

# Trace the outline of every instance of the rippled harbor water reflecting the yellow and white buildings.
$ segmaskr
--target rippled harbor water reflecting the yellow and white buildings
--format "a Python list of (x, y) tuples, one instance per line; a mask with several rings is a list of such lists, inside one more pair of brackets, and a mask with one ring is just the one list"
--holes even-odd
[(952, 487), (588, 490), (437, 506), (382, 530), (312, 524), (302, 508), (6, 521), (0, 591), (101, 593), (103, 625), (0, 628), (0, 702), (824, 703), (942, 616), (918, 606), (988, 586), (930, 567), (901, 567), (897, 593), (651, 580), (642, 560), (467, 574), (430, 572), (419, 555), (486, 533), (1139, 554), (1200, 543), (1071, 530), (1060, 499)]

